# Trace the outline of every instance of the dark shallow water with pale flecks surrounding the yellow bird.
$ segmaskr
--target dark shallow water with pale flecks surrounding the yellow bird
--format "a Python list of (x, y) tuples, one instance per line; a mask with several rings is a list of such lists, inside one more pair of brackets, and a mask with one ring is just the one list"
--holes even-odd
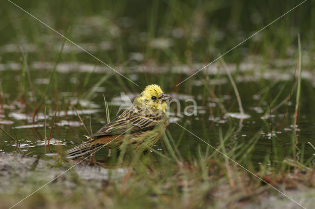
[[(35, 69), (31, 71), (32, 80), (37, 81), (33, 83), (34, 89), (43, 88), (43, 86), (46, 85), (46, 82), (38, 81), (45, 80), (47, 78), (45, 74), (47, 73), (49, 75), (50, 73), (49, 71), (46, 71), (45, 73), (40, 72), (45, 71)], [(143, 82), (145, 80), (144, 74), (134, 73), (132, 74), (132, 77), (134, 78), (133, 81), (139, 83), (140, 87), (134, 87), (134, 90), (128, 91), (126, 94), (121, 94), (120, 91), (122, 91), (122, 89), (119, 87), (112, 88), (104, 83), (95, 90), (90, 99), (86, 100), (79, 99), (81, 93), (78, 90), (70, 92), (64, 91), (63, 89), (75, 89), (75, 86), (78, 86), (83, 82), (87, 73), (77, 72), (76, 74), (71, 74), (59, 72), (57, 75), (58, 78), (60, 78), (58, 79), (58, 89), (60, 89), (58, 93), (59, 99), (57, 99), (56, 94), (49, 93), (45, 100), (45, 105), (47, 105), (47, 138), (50, 133), (56, 106), (59, 104), (57, 108), (59, 110), (56, 113), (56, 120), (48, 149), (48, 142), (46, 141), (45, 143), (44, 140), (44, 108), (42, 108), (36, 115), (34, 124), (32, 122), (33, 109), (28, 109), (32, 108), (32, 101), (39, 103), (40, 95), (33, 98), (32, 92), (28, 92), (26, 95), (28, 95), (29, 104), (25, 104), (25, 101), (21, 102), (21, 99), (17, 99), (21, 96), (21, 94), (18, 94), (21, 87), (14, 84), (19, 83), (21, 80), (21, 72), (4, 69), (1, 73), (4, 102), (1, 104), (3, 111), (1, 110), (0, 114), (0, 125), (5, 131), (20, 141), (20, 148), (23, 151), (26, 153), (32, 152), (31, 155), (33, 156), (42, 156), (44, 154), (50, 156), (51, 154), (49, 153), (56, 153), (60, 148), (66, 150), (86, 141), (84, 135), (87, 135), (87, 132), (83, 128), (82, 123), (73, 108), (67, 106), (70, 100), (87, 124), (89, 131), (89, 118), (91, 115), (92, 130), (95, 132), (106, 123), (103, 94), (111, 109), (110, 118), (113, 119), (116, 117), (117, 111), (121, 105), (128, 104), (128, 98), (133, 100), (138, 92), (140, 92), (146, 85), (146, 83)], [(91, 86), (93, 86), (102, 76), (102, 73), (94, 73), (87, 85), (91, 88)], [(148, 76), (149, 78), (153, 77), (153, 75), (147, 75), (147, 77)], [(164, 75), (164, 78), (166, 77), (167, 75)], [(272, 103), (281, 88), (286, 85), (277, 102), (272, 104), (272, 108), (277, 106), (277, 104), (289, 95), (294, 82), (290, 80), (278, 80), (270, 88), (266, 99), (261, 100), (264, 95), (264, 92), (262, 92), (263, 87), (272, 84), (273, 81), (260, 78), (257, 82), (255, 80), (237, 79), (239, 78), (238, 76), (236, 78), (236, 83), (244, 112), (246, 113), (246, 115), (241, 115), (239, 113), (235, 93), (228, 78), (226, 78), (226, 75), (224, 74), (221, 75), (221, 77), (222, 78), (219, 79), (213, 77), (208, 81), (210, 84), (213, 84), (213, 82), (216, 81), (217, 85), (215, 93), (220, 98), (219, 100), (209, 96), (209, 93), (205, 91), (203, 85), (200, 83), (203, 82), (200, 79), (191, 78), (191, 81), (188, 81), (190, 82), (189, 84), (191, 84), (188, 91), (185, 90), (185, 88), (180, 88), (179, 92), (175, 92), (174, 88), (172, 89), (164, 85), (164, 91), (171, 94), (173, 99), (179, 100), (181, 104), (180, 111), (178, 111), (176, 109), (176, 103), (171, 102), (169, 108), (170, 124), (167, 129), (174, 139), (175, 144), (178, 145), (180, 155), (184, 158), (198, 157), (198, 150), (200, 149), (202, 153), (205, 153), (208, 145), (189, 132), (185, 132), (176, 123), (185, 126), (189, 131), (214, 147), (220, 146), (219, 130), (222, 129), (224, 136), (229, 128), (233, 128), (234, 131), (231, 133), (231, 136), (225, 141), (227, 150), (232, 150), (238, 145), (246, 146), (252, 143), (252, 137), (255, 134), (258, 134), (259, 139), (254, 145), (252, 153), (247, 156), (249, 159), (252, 159), (253, 163), (256, 165), (263, 163), (266, 155), (270, 155), (271, 160), (282, 160), (285, 157), (293, 157), (292, 147), (294, 141), (292, 142), (293, 128), (291, 124), (293, 123), (295, 97), (292, 96), (288, 103), (284, 103), (279, 109), (275, 110), (272, 113), (271, 119), (270, 113), (267, 110), (269, 107), (268, 101), (269, 103)], [(246, 75), (244, 78), (245, 77)], [(9, 78), (15, 78), (12, 84), (8, 83)], [(111, 77), (110, 79), (113, 82), (115, 78)], [(184, 86), (187, 85), (183, 85), (183, 87)], [(299, 154), (299, 157), (304, 157), (304, 159), (312, 157), (315, 153), (307, 144), (308, 141), (313, 144), (315, 143), (315, 130), (313, 129), (315, 125), (315, 117), (310, 114), (312, 100), (314, 99), (312, 98), (314, 95), (313, 92), (314, 87), (312, 82), (309, 79), (304, 79), (302, 82), (302, 102), (299, 111), (298, 127), (296, 129), (296, 137), (298, 138), (297, 148), (302, 150), (302, 154)], [(196, 101), (197, 106), (195, 115), (188, 116), (184, 114), (185, 106), (192, 104), (192, 102), (189, 101), (185, 102), (188, 99), (194, 99)], [(77, 101), (78, 103), (76, 103)], [(218, 105), (219, 101), (224, 105), (228, 112), (227, 114), (224, 114), (221, 111), (221, 108)], [(67, 108), (67, 111), (65, 111), (65, 108)], [(266, 116), (263, 116), (266, 111)], [(121, 112), (122, 111), (120, 110), (120, 113)], [(281, 124), (282, 128), (280, 129)], [(185, 134), (183, 138), (181, 138), (183, 132), (185, 132)], [(8, 138), (2, 131), (0, 132), (0, 138), (2, 152), (10, 153), (14, 151), (15, 144), (13, 140)], [(165, 145), (161, 141), (158, 141), (154, 146), (154, 149), (158, 152), (167, 152)], [(210, 153), (214, 152), (212, 148), (210, 148), (209, 151)], [(103, 149), (96, 157), (100, 159), (106, 156), (107, 151)]]

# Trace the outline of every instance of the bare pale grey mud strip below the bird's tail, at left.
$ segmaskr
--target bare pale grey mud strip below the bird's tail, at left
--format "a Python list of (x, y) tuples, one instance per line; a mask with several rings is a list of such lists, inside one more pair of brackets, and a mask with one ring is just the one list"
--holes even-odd
[(19, 154), (0, 153), (0, 192), (12, 191), (15, 186), (21, 186), (30, 180), (47, 183), (52, 180), (63, 181), (67, 184), (73, 182), (73, 178), (78, 178), (97, 187), (110, 177), (122, 177), (126, 173), (123, 168), (105, 169), (85, 162), (75, 165), (76, 163), (77, 161), (65, 163), (53, 159), (42, 160)]

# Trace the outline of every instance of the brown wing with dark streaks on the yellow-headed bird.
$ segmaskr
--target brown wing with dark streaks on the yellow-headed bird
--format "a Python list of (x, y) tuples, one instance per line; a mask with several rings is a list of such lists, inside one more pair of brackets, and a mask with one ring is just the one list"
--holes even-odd
[(97, 133), (90, 137), (152, 130), (154, 127), (161, 124), (165, 116), (165, 113), (159, 112), (155, 114), (150, 114), (149, 112), (147, 114), (141, 114), (142, 111), (141, 107), (137, 108), (131, 105), (119, 117), (103, 126)]

